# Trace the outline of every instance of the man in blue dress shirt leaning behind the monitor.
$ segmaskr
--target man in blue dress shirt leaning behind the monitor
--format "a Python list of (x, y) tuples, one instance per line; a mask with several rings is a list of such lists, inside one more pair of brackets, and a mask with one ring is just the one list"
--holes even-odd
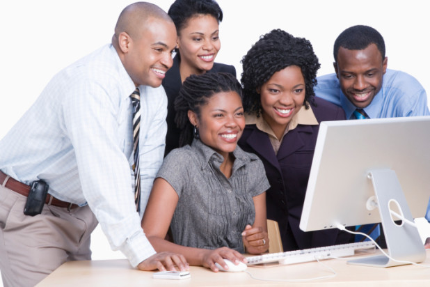
[(344, 30), (335, 40), (333, 56), (335, 73), (318, 77), (314, 91), (317, 97), (342, 107), (347, 118), (430, 115), (426, 91), (417, 79), (387, 69), (385, 42), (372, 27)]

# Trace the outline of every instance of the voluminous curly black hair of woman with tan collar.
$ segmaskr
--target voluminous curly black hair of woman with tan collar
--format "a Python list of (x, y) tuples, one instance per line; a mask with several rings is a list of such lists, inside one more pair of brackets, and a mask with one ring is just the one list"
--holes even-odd
[(314, 86), (317, 84), (317, 71), (320, 67), (312, 45), (305, 38), (275, 29), (260, 37), (242, 58), (243, 70), (241, 83), (244, 86), (244, 110), (248, 113), (262, 112), (260, 94), (257, 89), (269, 81), (274, 73), (296, 65), (301, 68), (305, 79), (305, 104), (315, 105)]

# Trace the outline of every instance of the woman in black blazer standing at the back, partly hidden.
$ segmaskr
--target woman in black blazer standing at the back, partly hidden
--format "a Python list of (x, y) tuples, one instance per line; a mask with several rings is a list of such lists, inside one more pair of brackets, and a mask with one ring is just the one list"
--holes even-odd
[(177, 54), (162, 84), (168, 98), (164, 155), (179, 147), (180, 130), (175, 125), (175, 98), (186, 77), (205, 72), (228, 72), (236, 77), (234, 66), (214, 63), (221, 48), (218, 24), (223, 20), (218, 3), (213, 0), (176, 0), (170, 6), (168, 15), (177, 30)]

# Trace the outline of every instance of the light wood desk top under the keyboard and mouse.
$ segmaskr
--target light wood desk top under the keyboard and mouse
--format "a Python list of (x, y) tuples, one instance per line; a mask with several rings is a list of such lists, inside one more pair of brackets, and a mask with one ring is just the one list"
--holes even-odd
[[(356, 256), (357, 257), (357, 256)], [(46, 286), (430, 286), (430, 268), (403, 265), (389, 268), (349, 265), (346, 260), (322, 261), (332, 267), (336, 276), (305, 282), (258, 281), (246, 272), (212, 272), (191, 266), (191, 279), (152, 279), (153, 272), (133, 269), (126, 259), (102, 261), (70, 261), (38, 284)], [(427, 250), (430, 265), (430, 250)], [(254, 277), (265, 279), (303, 279), (331, 274), (317, 262), (276, 267), (248, 267)]]

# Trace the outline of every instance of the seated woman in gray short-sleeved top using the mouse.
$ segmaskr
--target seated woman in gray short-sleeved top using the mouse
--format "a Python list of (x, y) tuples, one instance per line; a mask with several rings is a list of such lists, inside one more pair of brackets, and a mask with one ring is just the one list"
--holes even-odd
[[(241, 86), (228, 73), (188, 77), (175, 101), (180, 145), (154, 181), (142, 227), (157, 251), (218, 271), (226, 258), (269, 249), (266, 189), (260, 159), (237, 141), (245, 127)], [(165, 240), (171, 228), (173, 242)]]

